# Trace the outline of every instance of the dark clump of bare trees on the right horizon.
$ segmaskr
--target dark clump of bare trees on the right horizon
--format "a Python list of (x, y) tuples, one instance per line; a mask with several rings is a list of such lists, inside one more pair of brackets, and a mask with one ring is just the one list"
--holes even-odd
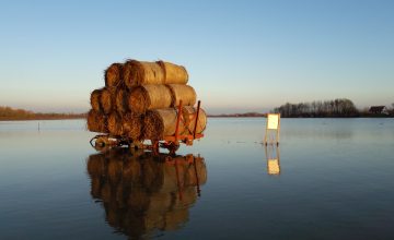
[(325, 118), (325, 117), (359, 117), (355, 104), (347, 98), (334, 100), (314, 100), (312, 103), (285, 104), (274, 109), (285, 118)]

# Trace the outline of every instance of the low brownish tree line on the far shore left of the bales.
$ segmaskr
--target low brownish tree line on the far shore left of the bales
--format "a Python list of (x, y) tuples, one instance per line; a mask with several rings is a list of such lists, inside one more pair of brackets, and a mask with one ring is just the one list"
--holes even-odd
[(77, 119), (85, 116), (85, 113), (36, 113), (24, 109), (0, 106), (0, 120)]

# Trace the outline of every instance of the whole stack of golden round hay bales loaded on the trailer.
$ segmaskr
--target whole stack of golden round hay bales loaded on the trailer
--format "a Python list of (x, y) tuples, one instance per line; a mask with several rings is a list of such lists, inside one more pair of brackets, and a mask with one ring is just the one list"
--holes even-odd
[[(162, 140), (175, 133), (178, 106), (179, 134), (202, 133), (207, 116), (196, 121), (195, 89), (187, 85), (184, 67), (165, 61), (127, 60), (104, 72), (105, 86), (91, 93), (88, 129), (131, 141)], [(197, 127), (195, 127), (197, 124)]]

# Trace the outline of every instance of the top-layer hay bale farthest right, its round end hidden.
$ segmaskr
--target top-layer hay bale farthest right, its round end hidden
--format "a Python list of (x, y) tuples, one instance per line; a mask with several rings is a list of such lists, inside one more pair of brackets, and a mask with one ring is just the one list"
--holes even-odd
[(164, 72), (164, 83), (177, 83), (186, 84), (188, 81), (188, 74), (183, 65), (177, 65), (171, 62), (158, 61)]

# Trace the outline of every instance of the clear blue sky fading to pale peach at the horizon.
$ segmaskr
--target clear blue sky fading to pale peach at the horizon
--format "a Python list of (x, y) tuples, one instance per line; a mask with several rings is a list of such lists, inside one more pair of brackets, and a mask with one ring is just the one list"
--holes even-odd
[(183, 64), (211, 113), (394, 103), (394, 1), (1, 1), (0, 106), (89, 109), (127, 58)]

